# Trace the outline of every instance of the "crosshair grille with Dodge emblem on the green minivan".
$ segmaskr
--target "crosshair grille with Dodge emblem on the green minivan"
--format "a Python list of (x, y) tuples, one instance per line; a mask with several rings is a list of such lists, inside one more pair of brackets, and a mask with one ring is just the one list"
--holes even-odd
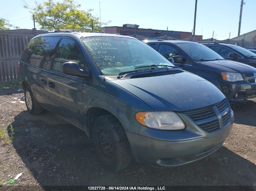
[(228, 125), (230, 121), (230, 109), (227, 99), (224, 99), (213, 106), (203, 107), (195, 110), (186, 111), (186, 114), (202, 129), (207, 132), (213, 132), (221, 128), (221, 120), (218, 119), (218, 114), (221, 115), (223, 127)]

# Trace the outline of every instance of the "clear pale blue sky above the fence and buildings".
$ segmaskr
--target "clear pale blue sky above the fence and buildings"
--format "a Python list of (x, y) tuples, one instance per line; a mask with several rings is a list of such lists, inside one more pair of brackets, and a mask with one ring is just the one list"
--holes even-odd
[[(57, 1), (57, 0), (56, 0)], [(62, 2), (62, 0), (58, 0)], [(25, 0), (28, 5), (35, 5), (35, 0)], [(38, 0), (44, 2), (44, 0)], [(139, 28), (158, 30), (176, 30), (192, 32), (194, 25), (195, 0), (76, 0), (81, 4), (81, 10), (94, 9), (92, 14), (100, 16), (108, 27), (137, 24)], [(244, 0), (241, 32), (248, 33), (256, 29), (256, 0)], [(203, 39), (214, 38), (224, 40), (238, 35), (238, 22), (241, 0), (198, 0), (196, 16), (196, 35)], [(0, 18), (5, 18), (11, 24), (21, 29), (32, 29), (33, 21), (28, 9), (23, 8), (22, 0), (4, 1), (0, 7)], [(40, 26), (36, 24), (36, 28)]]

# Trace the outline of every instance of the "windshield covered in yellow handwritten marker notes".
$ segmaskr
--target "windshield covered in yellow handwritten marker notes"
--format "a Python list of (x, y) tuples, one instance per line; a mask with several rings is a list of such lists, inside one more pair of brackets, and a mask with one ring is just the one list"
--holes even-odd
[(150, 46), (137, 39), (85, 37), (81, 42), (101, 75), (103, 72), (105, 75), (117, 75), (120, 72), (136, 71), (141, 69), (139, 66), (153, 64), (157, 65), (154, 66), (156, 68), (167, 67), (159, 65), (174, 66)]

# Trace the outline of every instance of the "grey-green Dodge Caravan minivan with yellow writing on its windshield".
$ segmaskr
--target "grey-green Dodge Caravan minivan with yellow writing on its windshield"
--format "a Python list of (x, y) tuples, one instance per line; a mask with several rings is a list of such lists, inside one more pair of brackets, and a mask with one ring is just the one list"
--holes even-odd
[(28, 112), (45, 108), (84, 130), (113, 171), (132, 157), (157, 167), (204, 158), (234, 122), (218, 88), (128, 36), (47, 32), (28, 43), (19, 72)]

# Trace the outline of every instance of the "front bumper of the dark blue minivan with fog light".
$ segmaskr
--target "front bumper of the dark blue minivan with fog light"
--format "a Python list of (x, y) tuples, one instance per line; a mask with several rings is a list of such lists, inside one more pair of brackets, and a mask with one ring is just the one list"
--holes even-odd
[(246, 84), (232, 84), (234, 83), (232, 82), (221, 86), (221, 91), (228, 101), (239, 102), (256, 97), (256, 83), (249, 84), (245, 81), (241, 82)]

